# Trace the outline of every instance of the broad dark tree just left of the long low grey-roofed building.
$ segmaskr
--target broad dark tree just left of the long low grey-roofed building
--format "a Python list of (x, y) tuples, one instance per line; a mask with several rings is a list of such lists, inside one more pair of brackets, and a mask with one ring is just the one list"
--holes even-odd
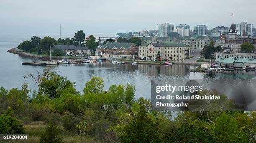
[(53, 49), (55, 43), (56, 43), (56, 40), (49, 36), (46, 36), (43, 39), (41, 39), (40, 46), (41, 46), (42, 52), (49, 53), (50, 47)]

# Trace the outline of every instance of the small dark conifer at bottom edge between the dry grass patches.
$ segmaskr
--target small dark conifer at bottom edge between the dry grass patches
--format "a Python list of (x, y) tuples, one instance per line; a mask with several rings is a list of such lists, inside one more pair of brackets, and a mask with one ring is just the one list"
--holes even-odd
[(60, 132), (59, 126), (50, 123), (42, 133), (40, 143), (63, 143), (63, 138), (59, 136)]

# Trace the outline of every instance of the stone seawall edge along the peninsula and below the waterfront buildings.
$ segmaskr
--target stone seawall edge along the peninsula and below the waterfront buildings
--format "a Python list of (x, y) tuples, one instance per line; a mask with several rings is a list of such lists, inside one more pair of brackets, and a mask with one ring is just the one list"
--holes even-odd
[[(35, 58), (35, 59), (50, 59), (49, 56), (41, 56), (41, 55), (36, 55), (36, 54), (30, 54), (30, 53), (26, 53), (26, 52), (19, 52), (17, 50), (15, 50), (17, 48), (12, 48), (9, 49), (7, 52), (9, 53), (13, 53), (13, 54), (18, 54), (20, 56), (23, 57), (30, 57), (30, 58)], [(51, 59), (72, 59), (72, 57), (66, 57), (66, 56), (51, 56)], [(77, 59), (77, 57), (75, 58)], [(78, 58), (80, 59), (80, 58)], [(141, 61), (141, 60), (135, 60), (135, 61), (127, 61), (128, 63), (132, 63), (132, 62), (137, 62), (137, 64), (154, 64), (154, 65), (162, 65), (164, 62), (147, 62), (147, 61)], [(177, 61), (170, 61), (173, 64), (189, 64), (189, 65), (201, 65), (201, 64), (205, 64), (204, 62), (177, 62)]]

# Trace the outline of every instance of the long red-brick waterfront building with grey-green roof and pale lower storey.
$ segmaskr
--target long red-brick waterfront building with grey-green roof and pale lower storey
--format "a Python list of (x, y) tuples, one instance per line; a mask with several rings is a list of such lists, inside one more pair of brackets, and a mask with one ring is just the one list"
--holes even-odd
[(97, 53), (105, 58), (131, 59), (138, 55), (138, 47), (129, 42), (107, 42), (102, 48), (97, 48)]

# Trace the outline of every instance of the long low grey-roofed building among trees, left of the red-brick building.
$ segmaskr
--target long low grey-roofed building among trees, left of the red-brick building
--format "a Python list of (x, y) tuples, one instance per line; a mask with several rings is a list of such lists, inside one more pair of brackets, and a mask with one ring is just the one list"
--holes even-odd
[(88, 47), (74, 45), (54, 45), (54, 49), (61, 49), (65, 52), (71, 52), (74, 54), (91, 54), (91, 50), (88, 49)]

